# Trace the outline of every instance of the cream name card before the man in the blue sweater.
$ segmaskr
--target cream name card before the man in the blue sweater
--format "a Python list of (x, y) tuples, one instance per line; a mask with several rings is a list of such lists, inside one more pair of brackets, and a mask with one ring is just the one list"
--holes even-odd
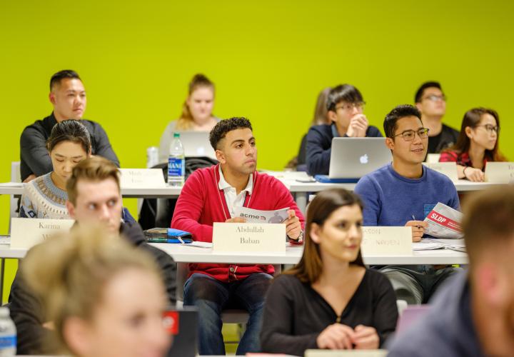
[(363, 256), (412, 256), (412, 228), (363, 227)]

